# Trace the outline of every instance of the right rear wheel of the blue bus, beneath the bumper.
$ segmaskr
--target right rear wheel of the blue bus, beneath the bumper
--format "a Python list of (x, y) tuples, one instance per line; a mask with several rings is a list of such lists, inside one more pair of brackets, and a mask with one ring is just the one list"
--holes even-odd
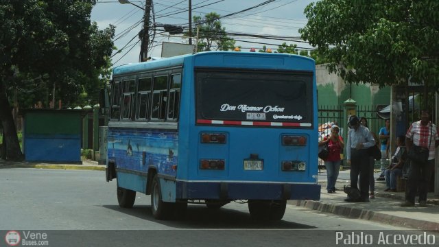
[(248, 211), (255, 220), (282, 220), (287, 200), (248, 200)]

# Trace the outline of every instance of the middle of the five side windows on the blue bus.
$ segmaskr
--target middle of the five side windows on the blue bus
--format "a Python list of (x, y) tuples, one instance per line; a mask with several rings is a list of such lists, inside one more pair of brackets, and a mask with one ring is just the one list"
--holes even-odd
[(136, 119), (148, 119), (151, 110), (151, 78), (140, 78), (137, 91)]

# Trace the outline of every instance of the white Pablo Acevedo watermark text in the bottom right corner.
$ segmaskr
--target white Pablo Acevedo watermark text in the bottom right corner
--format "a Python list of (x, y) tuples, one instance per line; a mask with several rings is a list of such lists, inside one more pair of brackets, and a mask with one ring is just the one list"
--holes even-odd
[(340, 245), (434, 245), (436, 236), (426, 232), (420, 234), (411, 233), (383, 233), (368, 234), (364, 232), (344, 233), (335, 232), (335, 244)]

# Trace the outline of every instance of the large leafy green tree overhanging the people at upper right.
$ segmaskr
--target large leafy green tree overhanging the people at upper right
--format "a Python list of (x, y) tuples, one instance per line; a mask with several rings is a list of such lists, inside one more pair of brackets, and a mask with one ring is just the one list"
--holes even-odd
[[(439, 87), (439, 1), (322, 0), (299, 32), (346, 82)], [(427, 88), (426, 86), (426, 88)]]

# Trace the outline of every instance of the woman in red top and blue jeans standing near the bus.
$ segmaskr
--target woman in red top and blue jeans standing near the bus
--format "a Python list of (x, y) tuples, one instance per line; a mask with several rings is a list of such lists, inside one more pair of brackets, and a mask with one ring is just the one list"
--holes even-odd
[(331, 136), (324, 137), (318, 143), (321, 145), (328, 145), (329, 156), (324, 160), (324, 166), (327, 168), (327, 191), (328, 193), (335, 193), (335, 183), (337, 182), (338, 172), (340, 171), (340, 152), (344, 148), (343, 138), (338, 134), (340, 128), (336, 125), (331, 127)]

